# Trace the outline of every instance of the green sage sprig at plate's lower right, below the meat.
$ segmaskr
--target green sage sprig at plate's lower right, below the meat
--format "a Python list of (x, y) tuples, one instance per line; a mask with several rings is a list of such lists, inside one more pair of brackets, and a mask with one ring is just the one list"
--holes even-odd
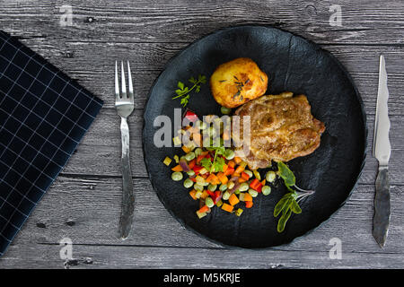
[[(310, 196), (314, 193), (313, 190), (304, 190), (296, 186), (296, 178), (292, 170), (285, 165), (284, 162), (277, 162), (277, 170), (279, 177), (284, 179), (285, 186), (290, 191), (282, 196), (275, 205), (274, 216), (277, 217), (282, 213), (279, 221), (277, 222), (277, 231), (282, 232), (285, 230), (286, 222), (289, 220), (292, 213), (302, 213), (302, 209), (299, 206), (299, 202), (306, 196)], [(298, 191), (294, 190), (296, 188)]]

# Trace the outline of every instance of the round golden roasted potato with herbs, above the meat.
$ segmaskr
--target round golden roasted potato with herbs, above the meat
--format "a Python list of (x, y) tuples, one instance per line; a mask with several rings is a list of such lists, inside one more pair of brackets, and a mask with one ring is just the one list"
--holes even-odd
[(262, 96), (268, 87), (268, 75), (247, 57), (219, 65), (210, 77), (210, 89), (217, 103), (235, 108)]

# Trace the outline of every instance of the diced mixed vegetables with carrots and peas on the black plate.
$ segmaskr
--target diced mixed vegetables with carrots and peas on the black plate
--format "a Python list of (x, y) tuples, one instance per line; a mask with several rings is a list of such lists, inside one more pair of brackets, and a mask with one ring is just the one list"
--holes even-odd
[[(192, 143), (181, 146), (185, 154), (180, 157), (175, 155), (175, 163), (169, 157), (166, 157), (163, 163), (167, 166), (173, 165), (172, 180), (183, 180), (184, 187), (190, 189), (189, 196), (199, 200), (199, 218), (206, 216), (215, 206), (240, 216), (244, 208), (252, 207), (254, 197), (260, 193), (264, 196), (271, 193), (271, 187), (267, 183), (275, 180), (275, 171), (270, 170), (265, 178), (261, 178), (259, 171), (248, 170), (246, 162), (234, 156), (231, 148), (225, 148), (223, 144), (201, 147), (201, 130), (212, 126), (199, 122), (198, 116), (191, 111), (187, 111), (185, 117), (193, 124), (181, 129), (180, 134), (192, 134)], [(221, 143), (226, 140), (226, 135), (221, 129)], [(174, 143), (179, 140), (173, 138)]]

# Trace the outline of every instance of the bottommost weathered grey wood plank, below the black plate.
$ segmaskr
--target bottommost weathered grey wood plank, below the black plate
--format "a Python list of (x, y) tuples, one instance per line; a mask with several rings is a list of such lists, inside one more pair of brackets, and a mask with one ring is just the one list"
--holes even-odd
[[(64, 268), (59, 245), (12, 246), (1, 268)], [(330, 259), (327, 242), (322, 251), (233, 250), (73, 245), (70, 268), (402, 268), (401, 253), (342, 250), (341, 259)], [(344, 245), (343, 245), (344, 248)], [(248, 260), (246, 259), (248, 258)]]

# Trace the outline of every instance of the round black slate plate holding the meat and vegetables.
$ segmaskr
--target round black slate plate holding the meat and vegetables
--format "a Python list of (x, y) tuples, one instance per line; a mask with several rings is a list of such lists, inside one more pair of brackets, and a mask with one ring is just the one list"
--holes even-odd
[[(180, 100), (171, 100), (178, 81), (185, 82), (198, 74), (208, 78), (217, 65), (236, 57), (252, 58), (268, 74), (267, 93), (293, 91), (307, 95), (312, 114), (326, 126), (315, 152), (288, 163), (297, 185), (316, 192), (304, 199), (303, 213), (293, 214), (282, 233), (277, 233), (277, 218), (273, 216), (275, 204), (286, 193), (281, 182), (272, 188), (270, 196), (254, 199), (253, 208), (241, 217), (213, 208), (199, 220), (195, 214), (198, 202), (190, 198), (182, 182), (171, 180), (171, 170), (162, 164), (165, 156), (172, 158), (182, 151), (154, 145), (154, 133), (160, 128), (154, 127), (154, 118), (166, 115), (173, 120), (173, 109), (180, 108)], [(199, 116), (220, 115), (220, 106), (207, 83), (198, 94), (191, 95), (188, 108)], [(364, 108), (349, 74), (335, 57), (311, 41), (272, 27), (218, 30), (180, 51), (154, 82), (144, 125), (145, 164), (162, 204), (185, 227), (225, 246), (268, 248), (302, 236), (346, 202), (364, 165)]]

